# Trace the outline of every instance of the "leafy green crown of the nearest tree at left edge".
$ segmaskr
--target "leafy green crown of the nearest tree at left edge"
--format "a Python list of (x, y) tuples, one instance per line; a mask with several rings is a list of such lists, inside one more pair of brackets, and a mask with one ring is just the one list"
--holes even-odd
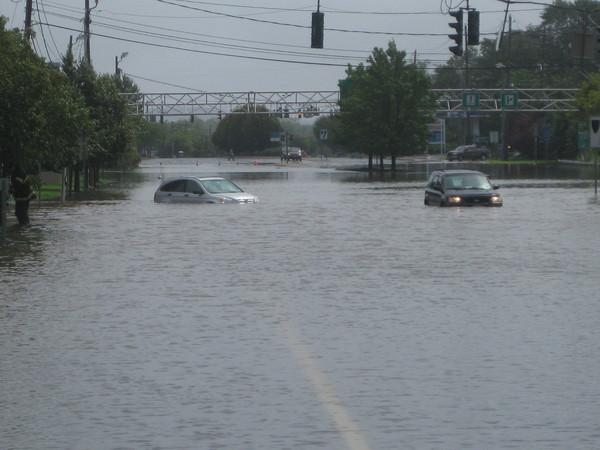
[(56, 169), (77, 158), (90, 127), (83, 98), (67, 76), (36, 56), (0, 17), (0, 162), (8, 171)]

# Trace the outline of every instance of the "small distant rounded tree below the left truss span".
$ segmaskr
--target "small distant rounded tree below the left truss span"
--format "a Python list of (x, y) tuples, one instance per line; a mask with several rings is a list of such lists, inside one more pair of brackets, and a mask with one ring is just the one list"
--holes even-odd
[[(264, 113), (267, 110), (260, 107), (257, 112)], [(232, 149), (236, 155), (255, 155), (270, 147), (271, 133), (280, 130), (276, 118), (269, 114), (248, 112), (248, 107), (245, 106), (226, 115), (219, 122), (212, 141), (222, 151)]]

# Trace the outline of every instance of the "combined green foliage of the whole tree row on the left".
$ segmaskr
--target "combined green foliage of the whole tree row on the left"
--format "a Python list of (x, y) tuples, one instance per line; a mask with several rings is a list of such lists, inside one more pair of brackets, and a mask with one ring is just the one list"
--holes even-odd
[[(62, 71), (36, 56), (17, 30), (0, 18), (0, 158), (14, 164), (58, 170), (132, 165), (138, 160), (134, 132), (120, 89), (131, 80), (97, 75), (77, 64), (72, 49)], [(77, 176), (77, 175), (75, 175)], [(97, 180), (97, 176), (94, 177)]]

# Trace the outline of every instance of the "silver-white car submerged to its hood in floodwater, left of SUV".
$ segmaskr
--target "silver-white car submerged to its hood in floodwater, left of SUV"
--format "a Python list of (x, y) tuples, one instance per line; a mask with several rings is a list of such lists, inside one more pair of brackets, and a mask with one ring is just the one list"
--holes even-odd
[(154, 193), (156, 203), (256, 203), (258, 198), (221, 177), (165, 180)]

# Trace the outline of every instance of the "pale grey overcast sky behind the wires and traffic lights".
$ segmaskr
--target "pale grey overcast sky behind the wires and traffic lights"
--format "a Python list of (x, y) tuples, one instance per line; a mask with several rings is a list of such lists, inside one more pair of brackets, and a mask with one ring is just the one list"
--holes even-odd
[[(551, 3), (550, 0), (547, 0)], [(94, 6), (95, 0), (90, 0)], [(505, 4), (470, 0), (481, 32), (494, 37)], [(69, 36), (83, 56), (85, 0), (33, 0), (38, 54), (60, 61)], [(143, 92), (335, 90), (347, 64), (374, 47), (399, 49), (433, 67), (452, 45), (448, 8), (466, 0), (321, 0), (323, 49), (310, 48), (317, 0), (99, 0), (92, 11), (91, 56), (97, 72), (119, 67)], [(513, 5), (513, 29), (539, 23), (541, 6)], [(10, 28), (23, 28), (25, 0), (0, 0)]]

